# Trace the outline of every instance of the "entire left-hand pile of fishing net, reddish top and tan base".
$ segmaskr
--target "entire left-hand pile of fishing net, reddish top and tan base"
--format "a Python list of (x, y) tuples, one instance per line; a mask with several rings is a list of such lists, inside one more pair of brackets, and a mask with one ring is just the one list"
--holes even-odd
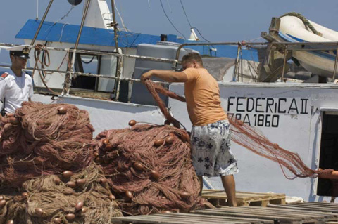
[(89, 115), (26, 102), (1, 119), (0, 223), (111, 223), (122, 216), (93, 161)]

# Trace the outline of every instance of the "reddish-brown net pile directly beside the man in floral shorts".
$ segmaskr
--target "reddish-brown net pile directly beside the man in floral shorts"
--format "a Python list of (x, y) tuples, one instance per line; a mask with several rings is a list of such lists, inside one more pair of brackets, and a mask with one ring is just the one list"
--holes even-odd
[(137, 124), (108, 130), (93, 140), (123, 213), (167, 213), (212, 207), (199, 197), (190, 159), (189, 134), (170, 125)]

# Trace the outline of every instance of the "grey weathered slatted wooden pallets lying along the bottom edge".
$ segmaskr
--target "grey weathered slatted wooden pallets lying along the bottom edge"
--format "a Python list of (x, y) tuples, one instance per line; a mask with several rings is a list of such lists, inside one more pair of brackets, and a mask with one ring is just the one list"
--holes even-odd
[[(304, 207), (320, 204), (304, 203)], [(337, 206), (325, 205), (324, 209), (336, 209)], [(190, 213), (165, 213), (149, 216), (129, 216), (113, 218), (113, 223), (120, 224), (337, 224), (338, 212), (308, 211), (289, 205), (222, 206), (218, 209), (195, 210)]]

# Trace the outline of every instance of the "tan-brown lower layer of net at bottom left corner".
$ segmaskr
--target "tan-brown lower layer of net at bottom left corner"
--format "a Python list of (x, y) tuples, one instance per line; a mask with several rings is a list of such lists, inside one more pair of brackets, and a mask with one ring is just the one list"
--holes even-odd
[[(68, 175), (41, 176), (25, 181), (22, 193), (0, 196), (0, 223), (111, 223), (122, 216), (107, 179), (94, 162)], [(4, 193), (2, 192), (2, 193)]]

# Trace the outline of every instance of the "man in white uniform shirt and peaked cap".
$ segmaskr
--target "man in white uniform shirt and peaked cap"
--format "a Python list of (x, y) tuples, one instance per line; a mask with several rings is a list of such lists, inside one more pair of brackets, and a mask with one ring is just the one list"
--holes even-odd
[(1, 115), (13, 113), (23, 101), (30, 101), (33, 95), (32, 78), (23, 69), (30, 58), (29, 46), (8, 48), (11, 57), (11, 70), (0, 75), (0, 99), (3, 103)]

